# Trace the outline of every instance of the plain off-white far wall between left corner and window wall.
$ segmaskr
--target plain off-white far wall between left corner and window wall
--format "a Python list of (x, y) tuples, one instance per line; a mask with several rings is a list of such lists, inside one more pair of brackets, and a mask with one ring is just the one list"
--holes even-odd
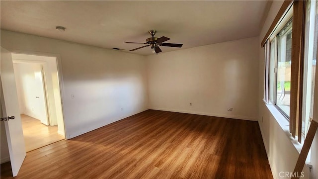
[(149, 107), (257, 120), (258, 50), (253, 37), (147, 56)]

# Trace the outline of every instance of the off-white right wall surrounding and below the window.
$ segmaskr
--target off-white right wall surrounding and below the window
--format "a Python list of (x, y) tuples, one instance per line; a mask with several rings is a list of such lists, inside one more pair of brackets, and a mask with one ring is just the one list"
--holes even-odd
[[(280, 9), (283, 1), (273, 1), (271, 8), (268, 12), (267, 18), (261, 30), (259, 36), (259, 43), (257, 44), (260, 47), (260, 43), (263, 40), (269, 26), (273, 22), (278, 10)], [(259, 48), (259, 94), (258, 94), (258, 103), (259, 103), (259, 116), (258, 123), (262, 132), (262, 137), (264, 145), (266, 148), (269, 164), (274, 176), (274, 179), (280, 179), (280, 172), (293, 172), (299, 152), (296, 150), (292, 142), (292, 138), (287, 131), (284, 131), (279, 125), (277, 120), (274, 118), (273, 114), (270, 112), (268, 107), (263, 102), (264, 94), (264, 48)], [(285, 119), (283, 119), (285, 120)], [(317, 137), (315, 139), (317, 141)], [(312, 151), (317, 153), (317, 147), (312, 148)], [(312, 160), (312, 162), (317, 161), (317, 158)], [(313, 173), (317, 173), (317, 162), (316, 167), (313, 169), (312, 173), (309, 172), (307, 166), (304, 167), (305, 179), (310, 178)], [(317, 178), (317, 177), (315, 177)], [(287, 178), (286, 178), (287, 179)]]

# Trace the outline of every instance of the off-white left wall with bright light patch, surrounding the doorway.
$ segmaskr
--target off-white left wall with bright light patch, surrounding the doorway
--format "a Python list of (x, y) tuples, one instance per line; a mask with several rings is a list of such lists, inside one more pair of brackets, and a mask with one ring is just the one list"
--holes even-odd
[(6, 30), (1, 46), (60, 55), (68, 139), (148, 109), (143, 56)]

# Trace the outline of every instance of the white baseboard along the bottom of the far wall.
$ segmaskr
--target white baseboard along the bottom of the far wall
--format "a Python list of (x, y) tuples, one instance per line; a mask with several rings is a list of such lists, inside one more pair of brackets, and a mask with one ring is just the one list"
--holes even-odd
[(161, 110), (161, 111), (170, 111), (170, 112), (181, 112), (181, 113), (187, 113), (187, 114), (207, 115), (207, 116), (215, 116), (215, 117), (225, 117), (225, 118), (232, 118), (232, 119), (242, 119), (242, 120), (249, 120), (249, 121), (257, 121), (255, 118), (247, 117), (247, 116), (217, 114), (217, 113), (198, 112), (198, 111), (189, 111), (189, 110), (180, 110), (180, 109), (167, 109), (167, 108), (159, 108), (159, 107), (150, 107), (150, 109)]

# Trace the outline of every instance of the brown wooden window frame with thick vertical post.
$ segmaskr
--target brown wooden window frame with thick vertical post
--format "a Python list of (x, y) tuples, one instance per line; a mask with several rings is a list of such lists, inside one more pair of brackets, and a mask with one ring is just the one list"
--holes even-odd
[[(290, 17), (288, 17), (291, 15)], [(290, 18), (293, 18), (292, 24), (292, 52), (291, 52), (291, 89), (290, 89), (290, 114), (289, 117), (284, 111), (282, 111), (277, 105), (277, 47), (278, 47), (278, 33), (288, 23)], [(289, 119), (289, 131), (292, 136), (298, 141), (302, 142), (302, 110), (303, 110), (303, 77), (304, 77), (304, 44), (305, 44), (305, 18), (306, 18), (306, 1), (285, 0), (276, 15), (273, 23), (267, 31), (261, 47), (266, 46), (265, 65), (270, 65), (270, 45), (272, 40), (275, 42), (275, 65), (274, 71), (274, 99), (270, 98), (270, 67), (265, 67), (266, 85), (264, 87), (265, 102), (268, 104), (274, 104), (278, 111), (288, 120)], [(265, 45), (266, 44), (266, 45)], [(274, 100), (274, 101), (272, 101)]]

